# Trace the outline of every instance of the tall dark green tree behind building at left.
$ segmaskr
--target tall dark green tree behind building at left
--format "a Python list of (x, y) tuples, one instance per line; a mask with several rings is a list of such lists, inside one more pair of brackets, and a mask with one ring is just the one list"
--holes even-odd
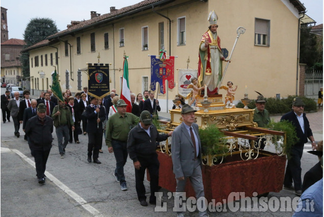
[[(51, 18), (32, 18), (23, 34), (23, 39), (26, 42), (24, 48), (30, 47), (59, 31), (55, 21)], [(29, 56), (27, 53), (20, 56), (20, 62), (23, 76), (29, 77)]]

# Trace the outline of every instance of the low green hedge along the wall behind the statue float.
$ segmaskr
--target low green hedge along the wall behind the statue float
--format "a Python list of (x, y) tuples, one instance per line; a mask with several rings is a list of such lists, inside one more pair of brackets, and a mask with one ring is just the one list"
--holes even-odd
[[(270, 114), (284, 114), (291, 111), (292, 108), (292, 100), (295, 98), (295, 95), (290, 95), (286, 99), (277, 99), (277, 98), (267, 98), (267, 103), (265, 104), (265, 109), (269, 111)], [(316, 111), (317, 105), (313, 99), (309, 99), (307, 97), (300, 97), (303, 102), (306, 104), (304, 111)], [(243, 108), (243, 103), (239, 102), (236, 106), (237, 108)], [(249, 109), (254, 109), (255, 100), (252, 100), (247, 107)]]

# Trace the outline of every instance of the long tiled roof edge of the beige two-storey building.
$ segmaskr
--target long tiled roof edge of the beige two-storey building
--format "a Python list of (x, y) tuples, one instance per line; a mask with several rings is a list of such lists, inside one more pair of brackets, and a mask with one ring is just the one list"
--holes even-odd
[(126, 15), (129, 12), (136, 12), (136, 10), (138, 10), (138, 9), (143, 9), (146, 6), (152, 5), (154, 3), (159, 3), (159, 2), (161, 2), (161, 3), (170, 2), (170, 0), (145, 0), (145, 1), (142, 1), (135, 5), (124, 7), (124, 8), (118, 9), (118, 10), (113, 11), (108, 14), (103, 14), (101, 16), (93, 17), (92, 19), (81, 21), (81, 23), (79, 23), (78, 25), (72, 26), (66, 30), (63, 30), (63, 31), (58, 32), (54, 35), (48, 36), (47, 39), (53, 39), (58, 36), (66, 35), (70, 32), (74, 32), (79, 29), (87, 28), (90, 25), (95, 25), (96, 23), (99, 23), (102, 21), (108, 21), (111, 18), (118, 18), (122, 15)]

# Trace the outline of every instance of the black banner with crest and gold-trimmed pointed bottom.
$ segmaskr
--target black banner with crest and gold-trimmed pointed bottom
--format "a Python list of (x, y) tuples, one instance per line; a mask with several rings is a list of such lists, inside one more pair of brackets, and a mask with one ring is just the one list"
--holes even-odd
[(95, 98), (110, 94), (109, 64), (88, 63), (88, 94)]

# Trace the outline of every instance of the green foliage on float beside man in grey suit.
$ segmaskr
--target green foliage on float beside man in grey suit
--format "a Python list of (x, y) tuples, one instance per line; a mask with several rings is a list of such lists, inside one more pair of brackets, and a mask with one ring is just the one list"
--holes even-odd
[(227, 152), (227, 139), (216, 125), (199, 129), (203, 155), (225, 154)]

